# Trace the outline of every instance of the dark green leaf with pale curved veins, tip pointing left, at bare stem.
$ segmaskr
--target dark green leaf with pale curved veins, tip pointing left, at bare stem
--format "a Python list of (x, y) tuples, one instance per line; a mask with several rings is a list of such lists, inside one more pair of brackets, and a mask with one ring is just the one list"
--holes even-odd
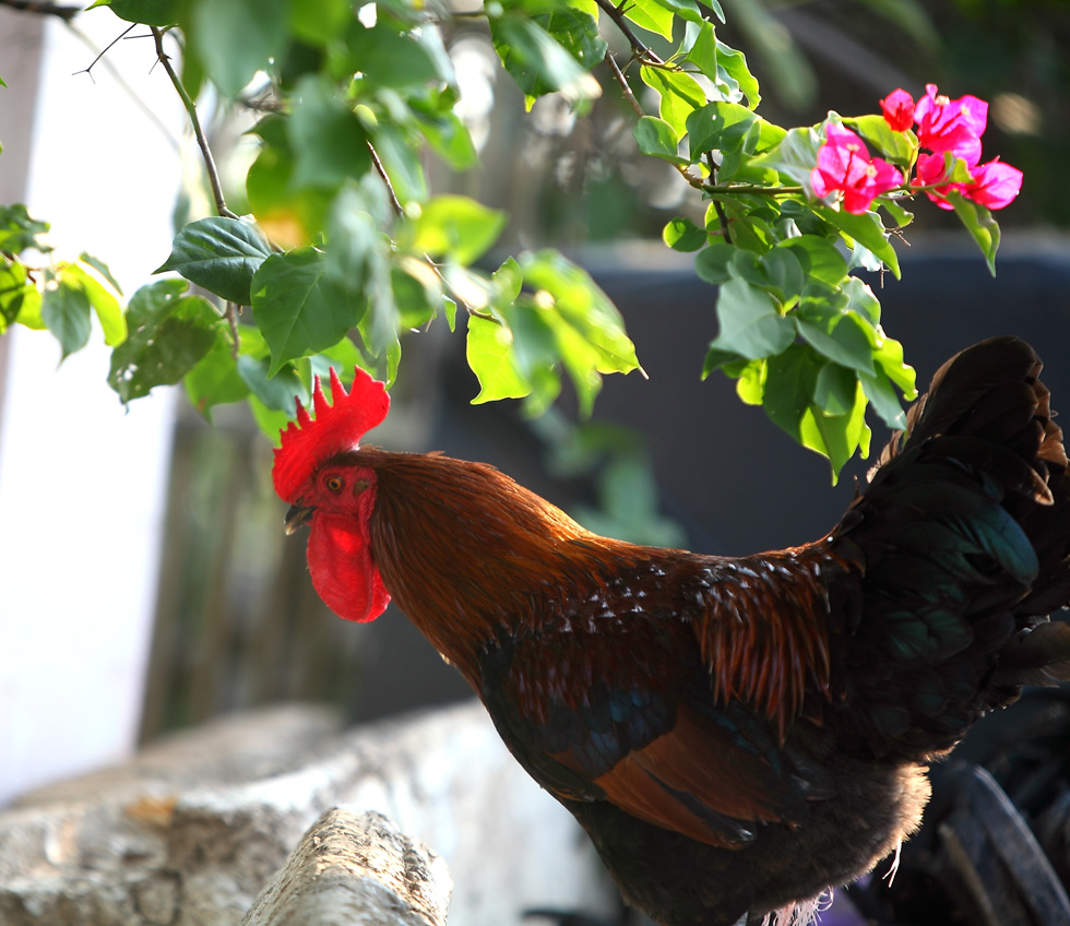
[(269, 254), (268, 239), (251, 222), (212, 216), (179, 232), (170, 257), (154, 272), (174, 270), (222, 299), (248, 306), (250, 281)]

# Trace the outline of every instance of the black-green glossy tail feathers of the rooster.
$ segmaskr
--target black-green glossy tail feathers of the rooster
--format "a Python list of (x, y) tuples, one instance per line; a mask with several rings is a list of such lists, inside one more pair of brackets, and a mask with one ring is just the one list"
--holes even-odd
[[(841, 524), (863, 554), (867, 619), (853, 645), (887, 662), (855, 685), (895, 733), (952, 745), (1020, 686), (1070, 678), (1070, 475), (1041, 360), (998, 337), (944, 364)], [(870, 663), (872, 664), (872, 663)]]

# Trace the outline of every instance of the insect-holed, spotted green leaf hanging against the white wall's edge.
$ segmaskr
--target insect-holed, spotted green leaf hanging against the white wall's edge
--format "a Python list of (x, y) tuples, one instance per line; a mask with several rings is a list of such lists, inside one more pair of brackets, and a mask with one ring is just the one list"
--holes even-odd
[(108, 384), (123, 404), (178, 382), (216, 343), (223, 319), (207, 299), (180, 295), (186, 286), (160, 280), (130, 298), (130, 334), (111, 353), (108, 372)]

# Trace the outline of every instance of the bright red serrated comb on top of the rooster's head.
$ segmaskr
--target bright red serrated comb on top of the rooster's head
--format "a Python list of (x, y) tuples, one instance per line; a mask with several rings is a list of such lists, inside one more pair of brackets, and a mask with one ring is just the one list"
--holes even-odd
[(390, 396), (387, 387), (359, 367), (354, 368), (353, 387), (345, 391), (342, 380), (331, 367), (331, 399), (329, 404), (320, 378), (312, 389), (313, 418), (297, 403), (297, 420), (280, 432), (282, 446), (275, 449), (272, 479), (283, 501), (294, 503), (297, 492), (324, 460), (335, 453), (356, 450), (360, 438), (387, 417)]

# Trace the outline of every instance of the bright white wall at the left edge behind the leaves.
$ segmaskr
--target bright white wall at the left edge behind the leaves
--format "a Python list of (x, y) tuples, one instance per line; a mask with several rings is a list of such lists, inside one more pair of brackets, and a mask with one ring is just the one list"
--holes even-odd
[[(26, 48), (20, 34), (28, 14), (0, 14), (8, 84), (0, 108), (10, 116), (32, 72), (20, 73), (2, 46)], [(99, 48), (126, 26), (106, 8), (75, 22)], [(169, 252), (182, 111), (163, 69), (153, 68), (151, 38), (119, 41), (107, 61), (171, 127), (170, 139), (103, 63), (92, 79), (73, 73), (96, 54), (58, 20), (46, 21), (24, 201), (51, 223), (60, 259), (88, 250), (129, 296)], [(13, 130), (2, 118), (0, 126), (3, 173), (9, 152), (24, 143), (19, 129), (28, 127)], [(112, 761), (134, 743), (177, 400), (164, 391), (124, 413), (106, 383), (108, 351), (96, 327), (91, 346), (58, 369), (51, 335), (16, 328), (3, 336), (0, 804)]]

